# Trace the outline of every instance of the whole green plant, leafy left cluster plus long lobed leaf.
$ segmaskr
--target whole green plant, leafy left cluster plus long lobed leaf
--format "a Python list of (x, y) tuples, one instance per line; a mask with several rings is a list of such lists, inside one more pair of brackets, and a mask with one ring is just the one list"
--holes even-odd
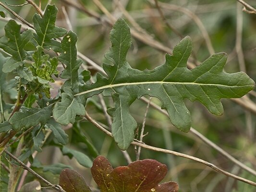
[[(96, 83), (91, 84), (89, 72), (79, 71), (82, 60), (77, 59), (76, 34), (55, 26), (56, 15), (57, 8), (48, 5), (43, 17), (34, 15), (35, 31), (22, 33), (21, 25), (10, 20), (5, 26), (5, 36), (0, 38), (0, 48), (6, 53), (5, 56), (0, 54), (0, 133), (21, 133), (34, 127), (30, 135), (25, 136), (26, 148), (19, 157), (21, 160), (29, 158), (35, 150), (41, 152), (45, 133), (51, 130), (54, 138), (51, 144), (59, 146), (63, 155), (75, 157), (81, 165), (91, 167), (88, 156), (63, 146), (68, 143), (68, 135), (61, 125), (76, 123), (77, 116), (85, 115), (86, 100), (94, 95), (102, 93), (113, 98), (114, 106), (108, 110), (113, 117), (111, 130), (119, 148), (126, 150), (134, 140), (137, 127), (129, 111), (137, 98), (146, 95), (159, 98), (172, 124), (188, 132), (191, 117), (185, 98), (192, 102), (198, 100), (211, 113), (221, 115), (221, 98), (244, 96), (255, 86), (244, 72), (223, 71), (227, 60), (225, 53), (214, 54), (194, 69), (187, 69), (192, 52), (189, 37), (179, 42), (173, 54), (166, 55), (166, 62), (154, 70), (133, 69), (126, 60), (131, 34), (123, 19), (117, 20), (110, 33), (112, 46), (103, 64), (107, 77), (98, 73)], [(32, 50), (28, 51), (28, 46)], [(59, 63), (64, 66), (62, 72), (57, 71)], [(15, 78), (6, 83), (13, 74)], [(50, 97), (53, 75), (65, 79), (55, 98)], [(4, 102), (3, 94), (13, 87), (18, 89), (16, 107), (23, 106), (9, 118), (13, 105)], [(74, 129), (79, 132), (78, 128)], [(97, 151), (93, 145), (84, 135), (80, 139), (92, 149), (95, 157)]]

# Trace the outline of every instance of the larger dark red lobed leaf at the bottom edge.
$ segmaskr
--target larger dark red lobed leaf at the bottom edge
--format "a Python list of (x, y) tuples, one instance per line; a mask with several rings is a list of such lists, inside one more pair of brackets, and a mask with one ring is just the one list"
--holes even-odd
[(128, 166), (112, 168), (108, 159), (98, 156), (91, 168), (100, 192), (178, 192), (178, 184), (158, 184), (167, 167), (153, 159), (137, 160)]

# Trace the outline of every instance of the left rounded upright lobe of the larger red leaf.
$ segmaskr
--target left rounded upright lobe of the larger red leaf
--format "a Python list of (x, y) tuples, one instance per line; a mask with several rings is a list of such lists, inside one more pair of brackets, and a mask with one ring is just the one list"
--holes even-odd
[(100, 192), (116, 192), (110, 178), (112, 170), (110, 162), (104, 156), (98, 156), (93, 161), (91, 173), (100, 188)]

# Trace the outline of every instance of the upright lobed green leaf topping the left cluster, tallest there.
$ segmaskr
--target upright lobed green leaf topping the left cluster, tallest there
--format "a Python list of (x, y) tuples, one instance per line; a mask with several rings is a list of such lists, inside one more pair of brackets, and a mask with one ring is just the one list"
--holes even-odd
[(64, 28), (55, 26), (57, 12), (58, 9), (55, 5), (47, 5), (43, 18), (38, 14), (34, 15), (33, 22), (37, 33), (34, 38), (37, 42), (36, 44), (42, 48), (61, 52), (61, 43), (54, 40), (54, 38), (64, 36), (67, 31)]

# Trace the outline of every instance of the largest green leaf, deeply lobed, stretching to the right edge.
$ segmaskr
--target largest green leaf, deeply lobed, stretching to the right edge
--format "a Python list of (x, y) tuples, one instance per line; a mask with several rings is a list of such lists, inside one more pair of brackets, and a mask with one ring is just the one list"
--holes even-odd
[(223, 71), (227, 60), (225, 53), (216, 53), (189, 70), (186, 63), (192, 52), (192, 42), (188, 36), (175, 46), (172, 55), (166, 55), (163, 65), (151, 71), (133, 69), (127, 62), (131, 34), (123, 19), (114, 24), (110, 41), (112, 46), (103, 64), (108, 78), (98, 74), (95, 84), (85, 84), (80, 88), (83, 91), (75, 96), (88, 98), (104, 91), (104, 96), (113, 97), (116, 104), (110, 110), (114, 114), (112, 134), (123, 150), (128, 148), (134, 137), (136, 123), (129, 114), (129, 106), (136, 98), (145, 95), (159, 98), (172, 124), (180, 131), (188, 132), (191, 115), (185, 106), (185, 98), (192, 102), (198, 100), (212, 114), (221, 115), (221, 98), (239, 98), (255, 87), (254, 81), (244, 72)]

